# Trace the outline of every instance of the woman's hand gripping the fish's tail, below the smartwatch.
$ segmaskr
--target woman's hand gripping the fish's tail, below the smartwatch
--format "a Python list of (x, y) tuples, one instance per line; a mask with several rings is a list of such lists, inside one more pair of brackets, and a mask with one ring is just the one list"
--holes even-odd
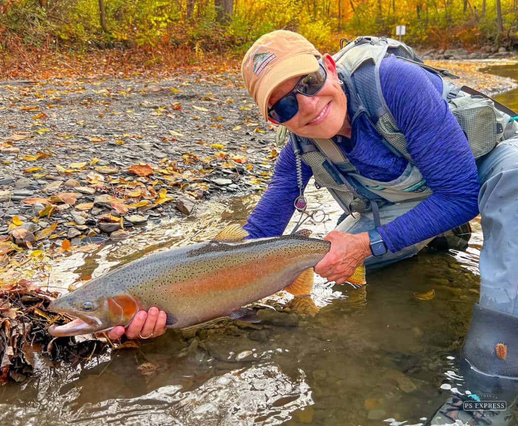
[(315, 272), (338, 284), (346, 282), (355, 269), (371, 254), (369, 234), (346, 234), (331, 231), (324, 238), (331, 242), (331, 249), (316, 264)]

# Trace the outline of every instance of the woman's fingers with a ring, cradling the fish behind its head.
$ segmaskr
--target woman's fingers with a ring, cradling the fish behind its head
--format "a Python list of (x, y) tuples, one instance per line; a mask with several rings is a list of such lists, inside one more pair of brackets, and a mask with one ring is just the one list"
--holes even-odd
[(111, 340), (117, 340), (124, 333), (126, 333), (128, 339), (157, 337), (165, 333), (166, 320), (165, 311), (159, 311), (158, 308), (151, 307), (147, 312), (140, 310), (126, 330), (122, 325), (118, 325), (108, 332), (108, 337)]

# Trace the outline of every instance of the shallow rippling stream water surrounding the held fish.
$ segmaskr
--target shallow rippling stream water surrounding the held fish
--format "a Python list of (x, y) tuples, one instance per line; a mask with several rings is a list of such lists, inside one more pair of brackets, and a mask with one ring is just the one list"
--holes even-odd
[[(340, 209), (312, 186), (307, 196), (310, 210), (329, 213), (303, 225), (322, 237)], [(74, 253), (53, 266), (50, 285), (66, 290), (151, 251), (207, 240), (244, 222), (257, 198), (207, 204), (196, 218), (150, 225), (131, 239)], [(0, 422), (422, 423), (444, 401), (445, 357), (456, 356), (478, 300), (481, 231), (472, 225), (465, 253), (424, 252), (369, 271), (360, 289), (315, 276), (314, 305), (284, 292), (272, 295), (260, 304), (260, 324), (212, 321), (82, 366), (41, 367), (38, 378), (0, 388)], [(414, 296), (431, 289), (432, 300)]]

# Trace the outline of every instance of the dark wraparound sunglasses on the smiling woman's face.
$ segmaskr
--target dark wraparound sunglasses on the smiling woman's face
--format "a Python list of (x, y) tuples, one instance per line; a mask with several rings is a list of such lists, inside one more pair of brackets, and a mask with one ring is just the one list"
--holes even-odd
[(327, 72), (324, 66), (319, 64), (318, 71), (300, 77), (290, 93), (282, 96), (274, 105), (268, 108), (268, 117), (278, 123), (291, 120), (298, 112), (297, 93), (305, 96), (316, 95), (324, 86), (326, 78)]

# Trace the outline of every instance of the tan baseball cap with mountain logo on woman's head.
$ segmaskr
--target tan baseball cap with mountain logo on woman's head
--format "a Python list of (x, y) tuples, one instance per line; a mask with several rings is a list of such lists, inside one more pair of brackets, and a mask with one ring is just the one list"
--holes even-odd
[(321, 56), (306, 38), (291, 31), (272, 31), (254, 42), (244, 55), (241, 74), (265, 120), (268, 100), (277, 86), (292, 77), (316, 72)]

